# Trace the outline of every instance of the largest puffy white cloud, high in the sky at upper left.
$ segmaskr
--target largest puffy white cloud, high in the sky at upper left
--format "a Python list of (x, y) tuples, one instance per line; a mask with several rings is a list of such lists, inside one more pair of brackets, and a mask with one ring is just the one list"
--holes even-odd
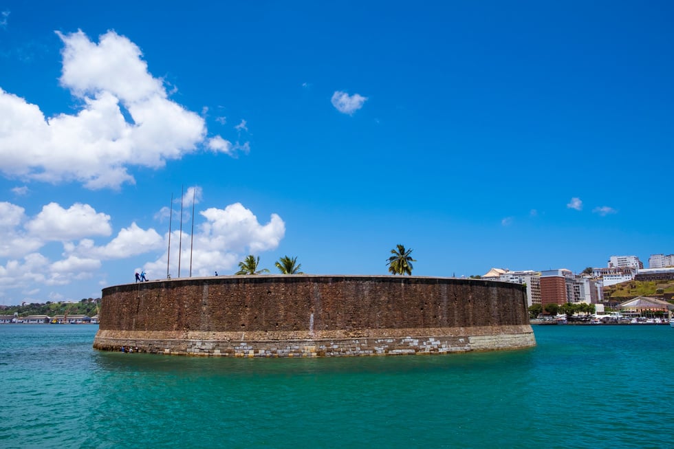
[(204, 142), (204, 118), (168, 98), (126, 37), (110, 31), (96, 43), (81, 31), (58, 36), (61, 85), (80, 110), (45, 118), (38, 105), (0, 89), (0, 171), (7, 177), (120, 188), (135, 182), (132, 166), (160, 168), (204, 143), (234, 151), (219, 136)]

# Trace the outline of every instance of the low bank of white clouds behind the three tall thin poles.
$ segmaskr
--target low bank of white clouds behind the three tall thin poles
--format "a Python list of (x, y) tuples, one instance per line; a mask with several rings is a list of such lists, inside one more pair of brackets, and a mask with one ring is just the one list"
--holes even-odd
[[(187, 189), (184, 201), (191, 205), (193, 199), (197, 203), (201, 198), (202, 188), (193, 186)], [(199, 217), (202, 223), (193, 236), (186, 231), (171, 232), (172, 276), (177, 276), (180, 262), (181, 276), (188, 276), (190, 265), (193, 276), (212, 275), (215, 270), (224, 274), (247, 254), (276, 249), (285, 236), (285, 223), (279, 215), (272, 214), (268, 223), (260, 223), (239, 203), (224, 209), (208, 208)], [(34, 292), (95, 276), (105, 279), (106, 261), (142, 257), (154, 261), (143, 265), (151, 278), (164, 278), (168, 232), (162, 235), (133, 222), (110, 238), (110, 222), (109, 215), (88, 204), (64, 208), (52, 202), (28, 217), (21, 206), (0, 201), (0, 298), (11, 290)], [(61, 254), (54, 242), (63, 246)], [(131, 270), (129, 276), (131, 282)]]

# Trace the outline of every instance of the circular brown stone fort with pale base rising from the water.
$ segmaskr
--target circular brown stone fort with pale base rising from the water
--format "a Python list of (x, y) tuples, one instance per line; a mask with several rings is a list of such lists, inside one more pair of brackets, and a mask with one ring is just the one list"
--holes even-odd
[(177, 278), (102, 290), (94, 348), (175, 355), (442, 354), (536, 345), (523, 286), (420, 276)]

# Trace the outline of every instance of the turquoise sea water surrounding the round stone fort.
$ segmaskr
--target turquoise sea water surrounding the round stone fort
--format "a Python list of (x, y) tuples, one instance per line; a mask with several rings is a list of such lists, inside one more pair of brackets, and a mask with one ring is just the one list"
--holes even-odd
[(674, 447), (667, 325), (322, 359), (103, 353), (97, 330), (0, 325), (0, 448)]

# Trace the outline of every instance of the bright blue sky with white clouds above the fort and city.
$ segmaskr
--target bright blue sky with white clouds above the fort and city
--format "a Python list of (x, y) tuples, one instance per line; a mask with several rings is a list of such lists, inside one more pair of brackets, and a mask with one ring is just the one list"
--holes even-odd
[(590, 3), (1, 2), (0, 304), (165, 278), (171, 195), (173, 278), (674, 252), (674, 6)]

